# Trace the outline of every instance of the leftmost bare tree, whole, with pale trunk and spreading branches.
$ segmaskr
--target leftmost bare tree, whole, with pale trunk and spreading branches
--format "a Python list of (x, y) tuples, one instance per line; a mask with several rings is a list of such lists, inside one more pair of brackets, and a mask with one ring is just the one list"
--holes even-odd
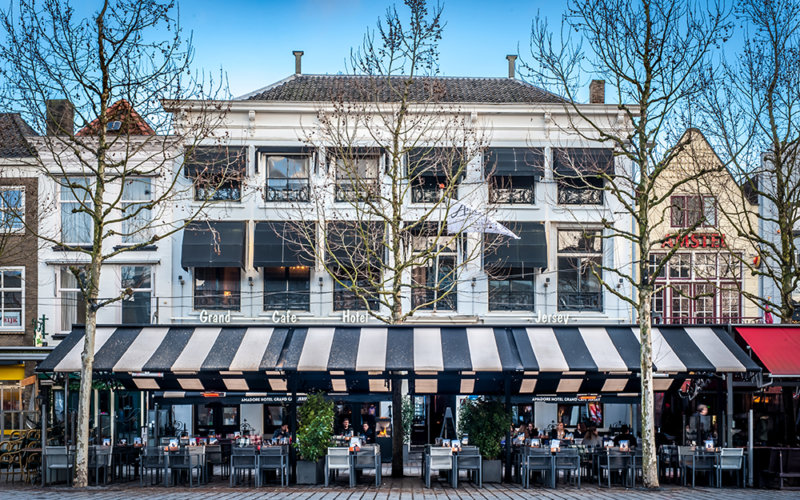
[[(55, 186), (50, 195), (60, 198), (63, 216), (53, 224), (60, 230), (28, 229), (83, 262), (70, 270), (85, 310), (75, 480), (85, 486), (97, 311), (131, 294), (99, 295), (103, 264), (185, 226), (173, 222), (171, 210), (195, 189), (179, 182), (175, 160), (211, 134), (223, 110), (215, 106), (191, 123), (178, 117), (182, 133), (175, 135), (161, 99), (193, 97), (196, 107), (211, 107), (221, 87), (192, 73), (191, 40), (182, 35), (173, 2), (106, 0), (82, 19), (66, 1), (19, 0), (0, 21), (5, 97), (47, 131), (32, 139), (31, 167)], [(204, 205), (224, 179), (201, 170), (205, 184), (196, 199)]]

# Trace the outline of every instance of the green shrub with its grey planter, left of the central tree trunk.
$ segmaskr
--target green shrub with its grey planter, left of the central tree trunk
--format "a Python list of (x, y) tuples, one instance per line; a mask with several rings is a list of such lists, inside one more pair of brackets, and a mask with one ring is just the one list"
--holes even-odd
[(324, 458), (333, 435), (333, 401), (325, 394), (309, 394), (297, 409), (297, 441), (292, 444), (300, 454), (297, 461), (297, 484), (319, 484), (325, 474)]

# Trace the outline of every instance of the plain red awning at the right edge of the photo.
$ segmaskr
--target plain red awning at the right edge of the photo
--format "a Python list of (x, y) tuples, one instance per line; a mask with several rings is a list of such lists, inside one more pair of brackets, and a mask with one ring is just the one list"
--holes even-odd
[(736, 327), (772, 375), (800, 376), (800, 327)]

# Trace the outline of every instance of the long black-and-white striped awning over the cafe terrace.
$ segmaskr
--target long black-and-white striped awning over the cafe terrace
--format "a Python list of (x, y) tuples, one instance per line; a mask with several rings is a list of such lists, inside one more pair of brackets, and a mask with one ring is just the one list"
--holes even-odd
[[(638, 390), (639, 335), (622, 326), (106, 326), (94, 371), (136, 389), (387, 392), (403, 373), (418, 393)], [(37, 367), (77, 372), (83, 331)], [(693, 373), (759, 371), (723, 328), (653, 329), (666, 390)], [(657, 384), (659, 385), (659, 384)]]

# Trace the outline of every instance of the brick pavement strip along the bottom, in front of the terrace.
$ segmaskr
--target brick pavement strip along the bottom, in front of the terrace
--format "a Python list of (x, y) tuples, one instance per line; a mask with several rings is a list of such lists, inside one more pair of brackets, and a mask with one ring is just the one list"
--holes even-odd
[(778, 500), (800, 498), (797, 491), (753, 490), (740, 488), (708, 488), (696, 489), (668, 485), (659, 491), (641, 489), (598, 488), (596, 485), (584, 485), (578, 489), (574, 486), (559, 485), (555, 490), (532, 488), (525, 490), (518, 485), (487, 484), (478, 489), (471, 484), (459, 485), (454, 490), (443, 483), (435, 484), (431, 489), (423, 488), (419, 478), (396, 480), (386, 478), (380, 488), (359, 484), (349, 489), (342, 486), (324, 488), (322, 486), (289, 488), (263, 487), (255, 489), (248, 486), (227, 487), (227, 482), (217, 482), (191, 490), (185, 486), (171, 488), (140, 488), (138, 482), (123, 485), (93, 486), (84, 490), (75, 490), (63, 486), (40, 488), (21, 486), (19, 484), (0, 483), (0, 498), (25, 500), (118, 500), (128, 498), (165, 498), (169, 500), (245, 500), (245, 499), (287, 499), (287, 500), (454, 500), (454, 499), (490, 499), (523, 500), (528, 498), (558, 500), (608, 500), (617, 498), (666, 498), (691, 500), (736, 500), (752, 498), (775, 498)]

